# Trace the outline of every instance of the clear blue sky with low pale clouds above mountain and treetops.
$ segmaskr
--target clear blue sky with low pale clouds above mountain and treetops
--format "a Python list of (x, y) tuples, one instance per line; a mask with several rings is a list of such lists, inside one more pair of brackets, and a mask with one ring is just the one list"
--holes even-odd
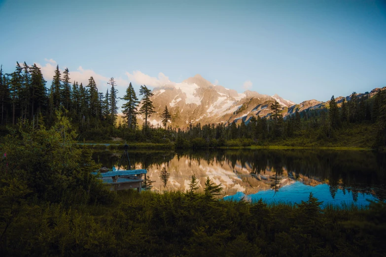
[(386, 86), (385, 1), (0, 0), (0, 63), (157, 86), (199, 73), (294, 102)]

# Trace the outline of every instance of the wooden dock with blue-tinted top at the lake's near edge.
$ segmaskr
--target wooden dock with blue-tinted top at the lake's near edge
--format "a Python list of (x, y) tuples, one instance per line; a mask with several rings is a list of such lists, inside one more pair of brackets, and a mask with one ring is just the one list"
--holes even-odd
[[(145, 169), (134, 170), (118, 170), (108, 171), (104, 173), (92, 172), (93, 175), (100, 175), (103, 183), (110, 187), (111, 191), (125, 190), (125, 189), (137, 189), (141, 192), (142, 189), (142, 174), (146, 174)], [(145, 175), (146, 176), (146, 175)]]

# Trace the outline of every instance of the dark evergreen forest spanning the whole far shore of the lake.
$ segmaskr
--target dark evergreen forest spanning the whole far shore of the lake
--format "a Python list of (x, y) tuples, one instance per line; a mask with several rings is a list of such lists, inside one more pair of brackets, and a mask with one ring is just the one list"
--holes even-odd
[[(268, 117), (252, 117), (247, 121), (226, 124), (189, 124), (188, 128), (168, 125), (171, 114), (165, 106), (160, 114), (163, 128), (154, 128), (147, 122), (154, 114), (152, 93), (140, 87), (141, 106), (133, 86), (128, 86), (122, 98), (116, 96), (114, 78), (108, 82), (106, 93), (98, 91), (93, 77), (87, 85), (70, 81), (70, 72), (55, 69), (51, 86), (46, 88), (39, 67), (17, 63), (10, 74), (0, 69), (1, 130), (15, 125), (18, 119), (33, 121), (39, 118), (47, 127), (55, 121), (55, 111), (62, 110), (78, 131), (78, 140), (107, 141), (119, 137), (128, 142), (175, 142), (176, 148), (205, 148), (221, 146), (249, 146), (284, 144), (293, 146), (360, 146), (384, 147), (386, 144), (386, 93), (375, 97), (358, 98), (355, 92), (350, 100), (343, 100), (338, 108), (334, 96), (328, 107), (297, 110), (282, 116), (282, 107), (275, 101)], [(123, 100), (123, 123), (117, 124), (118, 101)], [(144, 117), (142, 128), (138, 115)], [(173, 120), (172, 120), (173, 122)], [(361, 126), (358, 126), (361, 125)]]

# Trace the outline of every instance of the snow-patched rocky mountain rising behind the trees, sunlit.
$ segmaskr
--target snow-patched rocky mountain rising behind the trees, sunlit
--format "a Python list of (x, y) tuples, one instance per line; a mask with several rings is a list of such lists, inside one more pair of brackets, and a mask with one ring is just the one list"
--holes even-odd
[[(381, 89), (375, 89), (369, 95), (373, 96), (379, 90)], [(300, 112), (328, 105), (328, 102), (320, 102), (315, 99), (295, 104), (277, 94), (268, 96), (249, 90), (240, 94), (236, 90), (213, 85), (199, 74), (181, 83), (171, 82), (154, 88), (153, 94), (152, 101), (157, 113), (152, 115), (148, 121), (153, 126), (159, 126), (161, 123), (159, 115), (166, 105), (172, 115), (172, 126), (177, 128), (186, 128), (189, 123), (200, 122), (204, 125), (229, 123), (235, 120), (241, 122), (241, 119), (247, 121), (253, 115), (269, 116), (271, 114), (270, 106), (275, 99), (282, 106), (284, 117), (295, 113), (296, 109)], [(359, 97), (361, 95), (363, 94), (358, 94)], [(349, 100), (350, 96), (347, 96), (346, 99)], [(343, 97), (338, 97), (337, 100), (339, 103)], [(143, 118), (140, 115), (139, 121), (143, 122)]]

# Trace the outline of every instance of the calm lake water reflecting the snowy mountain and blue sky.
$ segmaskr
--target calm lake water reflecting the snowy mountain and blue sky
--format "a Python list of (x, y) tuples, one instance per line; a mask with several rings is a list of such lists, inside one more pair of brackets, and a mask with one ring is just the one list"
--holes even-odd
[[(111, 168), (122, 154), (106, 150), (93, 158)], [(207, 177), (221, 183), (226, 199), (300, 202), (310, 192), (324, 203), (386, 199), (386, 155), (372, 151), (136, 150), (129, 151), (129, 157), (132, 166), (148, 170), (152, 190), (161, 192), (185, 191), (195, 174), (202, 188)]]

